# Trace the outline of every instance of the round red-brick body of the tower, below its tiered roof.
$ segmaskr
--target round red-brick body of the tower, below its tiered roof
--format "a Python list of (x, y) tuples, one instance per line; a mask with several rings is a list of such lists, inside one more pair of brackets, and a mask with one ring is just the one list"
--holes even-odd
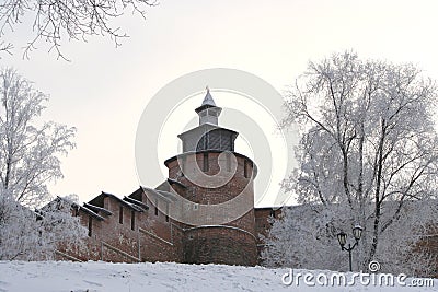
[[(165, 162), (169, 177), (185, 186), (184, 191), (178, 195), (199, 205), (197, 210), (191, 211), (192, 218), (187, 218), (187, 221), (193, 220), (198, 224), (186, 224), (184, 261), (254, 266), (257, 264), (254, 164), (249, 157), (233, 153), (237, 159), (235, 165), (227, 166), (227, 160), (229, 163), (231, 160), (227, 159), (227, 154), (220, 153), (185, 153)], [(218, 187), (198, 185), (184, 175), (196, 173), (198, 170), (214, 179), (212, 176), (219, 173), (220, 165), (231, 178), (223, 185), (218, 184)]]

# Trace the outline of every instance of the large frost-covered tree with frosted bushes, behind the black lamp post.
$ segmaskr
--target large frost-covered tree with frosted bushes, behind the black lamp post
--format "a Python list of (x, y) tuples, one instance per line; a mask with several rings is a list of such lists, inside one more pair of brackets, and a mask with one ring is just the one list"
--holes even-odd
[(302, 206), (274, 223), (266, 264), (345, 270), (336, 234), (360, 224), (355, 269), (436, 268), (419, 245), (438, 223), (435, 83), (412, 65), (344, 52), (310, 62), (286, 97), (284, 127), (299, 125), (301, 139), (284, 187)]

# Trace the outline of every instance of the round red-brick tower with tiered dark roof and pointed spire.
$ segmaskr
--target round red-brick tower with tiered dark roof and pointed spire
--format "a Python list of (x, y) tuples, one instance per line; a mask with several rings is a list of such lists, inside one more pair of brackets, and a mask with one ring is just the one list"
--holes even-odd
[(195, 109), (199, 126), (178, 138), (183, 153), (166, 160), (174, 191), (188, 203), (184, 211), (184, 261), (256, 265), (254, 222), (256, 166), (234, 152), (238, 132), (218, 126), (222, 108), (207, 87)]

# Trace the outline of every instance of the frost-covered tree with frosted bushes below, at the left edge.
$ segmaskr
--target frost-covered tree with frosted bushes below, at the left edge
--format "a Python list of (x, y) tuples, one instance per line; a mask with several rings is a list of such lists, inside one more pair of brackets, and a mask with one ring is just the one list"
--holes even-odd
[(85, 234), (68, 203), (48, 205), (74, 128), (38, 120), (47, 96), (13, 69), (0, 71), (0, 259), (50, 258), (57, 244)]

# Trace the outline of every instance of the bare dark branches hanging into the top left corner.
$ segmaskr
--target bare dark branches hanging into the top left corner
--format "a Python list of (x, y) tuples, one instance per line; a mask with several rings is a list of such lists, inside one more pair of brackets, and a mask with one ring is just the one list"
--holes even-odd
[[(33, 19), (32, 31), (34, 37), (25, 47), (24, 56), (35, 48), (38, 40), (51, 44), (58, 58), (66, 57), (60, 50), (62, 39), (83, 39), (87, 36), (110, 36), (116, 44), (118, 39), (126, 37), (118, 27), (111, 25), (112, 20), (122, 16), (131, 10), (142, 17), (146, 8), (157, 4), (157, 0), (3, 0), (0, 3), (0, 36), (4, 36), (5, 30), (13, 30), (25, 16)], [(10, 51), (12, 44), (4, 43), (3, 50)]]

